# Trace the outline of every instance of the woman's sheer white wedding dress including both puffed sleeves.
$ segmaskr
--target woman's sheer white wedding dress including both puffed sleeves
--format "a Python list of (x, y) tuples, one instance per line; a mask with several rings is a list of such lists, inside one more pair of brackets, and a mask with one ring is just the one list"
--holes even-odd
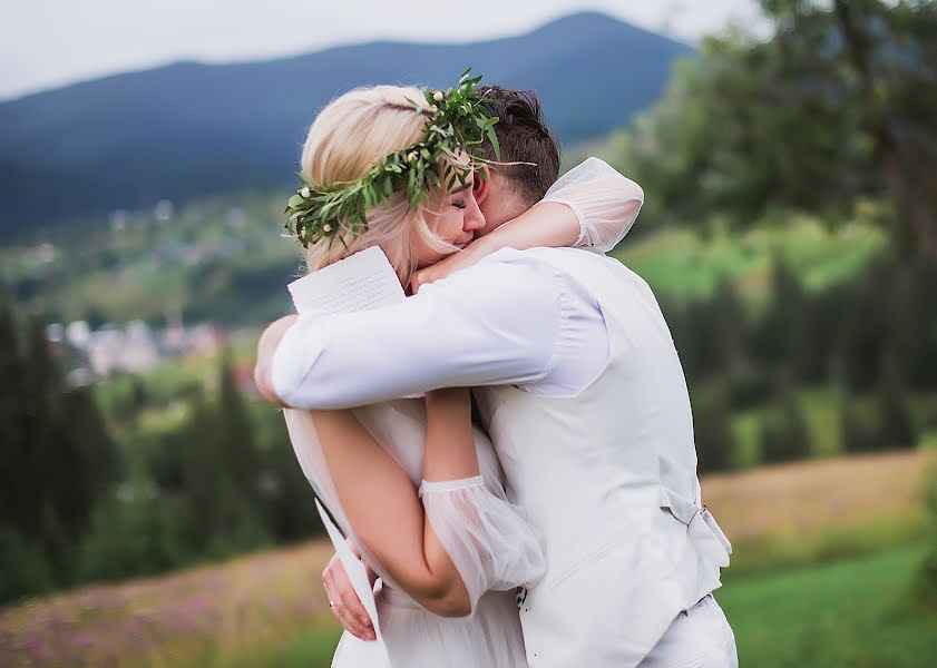
[[(641, 188), (612, 167), (589, 158), (550, 188), (545, 202), (570, 206), (580, 226), (578, 246), (604, 252), (631, 228), (643, 200)], [(389, 353), (392, 353), (389, 351)], [(322, 454), (312, 414), (286, 409), (284, 416), (296, 458), (316, 495), (342, 532), (382, 580), (377, 597), (379, 642), (385, 659), (375, 660), (374, 642), (344, 632), (333, 668), (517, 668), (527, 666), (514, 589), (545, 570), (541, 540), (526, 514), (508, 502), (504, 472), (488, 436), (475, 430), (480, 475), (422, 481), (426, 406), (422, 399), (400, 399), (357, 409), (354, 414), (419, 485), (433, 531), (456, 564), (471, 601), (466, 618), (438, 617), (400, 589), (355, 538)], [(377, 661), (377, 662), (375, 662)]]

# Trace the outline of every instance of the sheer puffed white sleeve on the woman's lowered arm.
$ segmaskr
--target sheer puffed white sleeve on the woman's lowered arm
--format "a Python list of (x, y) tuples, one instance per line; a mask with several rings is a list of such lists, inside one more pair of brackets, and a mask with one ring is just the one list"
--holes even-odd
[(504, 488), (481, 475), (423, 481), (420, 498), (439, 542), (459, 571), (471, 610), (489, 589), (514, 589), (546, 568), (540, 536)]

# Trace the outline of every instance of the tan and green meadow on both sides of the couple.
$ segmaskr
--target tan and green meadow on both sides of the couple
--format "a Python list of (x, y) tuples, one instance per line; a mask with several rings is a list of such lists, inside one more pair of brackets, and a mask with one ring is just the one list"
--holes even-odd
[[(734, 542), (718, 599), (743, 666), (926, 666), (937, 611), (914, 609), (927, 450), (705, 478)], [(769, 521), (770, 519), (770, 521)], [(318, 540), (0, 611), (7, 667), (315, 668), (339, 629)]]

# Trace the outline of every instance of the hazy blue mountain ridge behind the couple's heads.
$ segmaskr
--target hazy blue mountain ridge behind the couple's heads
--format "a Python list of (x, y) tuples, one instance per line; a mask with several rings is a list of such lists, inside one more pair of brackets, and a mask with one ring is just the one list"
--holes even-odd
[(354, 86), (535, 89), (565, 145), (661, 95), (683, 43), (601, 13), (466, 45), (380, 41), (262, 62), (177, 62), (0, 104), (0, 235), (160, 198), (294, 183), (319, 109)]

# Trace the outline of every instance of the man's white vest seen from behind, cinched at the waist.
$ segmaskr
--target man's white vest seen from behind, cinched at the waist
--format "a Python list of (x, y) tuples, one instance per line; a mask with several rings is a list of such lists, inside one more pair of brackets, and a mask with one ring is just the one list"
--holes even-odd
[(617, 261), (537, 248), (516, 262), (549, 264), (594, 295), (609, 342), (575, 395), (474, 389), (510, 499), (545, 538), (547, 571), (520, 613), (528, 664), (637, 666), (729, 563), (700, 504), (683, 371), (654, 295)]

